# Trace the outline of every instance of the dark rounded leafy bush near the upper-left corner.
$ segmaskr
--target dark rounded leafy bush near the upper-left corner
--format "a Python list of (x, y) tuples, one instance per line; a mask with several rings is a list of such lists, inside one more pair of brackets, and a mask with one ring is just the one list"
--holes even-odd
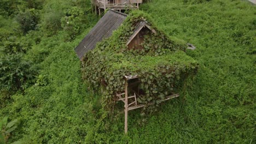
[(25, 12), (20, 11), (16, 20), (20, 23), (22, 32), (26, 34), (28, 31), (36, 29), (39, 22), (39, 14), (36, 9), (28, 9)]

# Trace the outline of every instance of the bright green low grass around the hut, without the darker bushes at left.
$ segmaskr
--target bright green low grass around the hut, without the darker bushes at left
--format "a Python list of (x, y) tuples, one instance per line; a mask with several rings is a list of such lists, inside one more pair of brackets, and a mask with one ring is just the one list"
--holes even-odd
[[(44, 37), (27, 53), (37, 62), (46, 86), (12, 95), (1, 115), (19, 119), (11, 140), (24, 143), (255, 143), (255, 6), (246, 1), (183, 3), (158, 0), (141, 9), (166, 33), (194, 44), (188, 54), (200, 63), (191, 89), (165, 102), (159, 111), (104, 118), (97, 94), (81, 80), (74, 47), (90, 28), (72, 42), (65, 33)], [(91, 25), (94, 25), (92, 22)], [(40, 35), (40, 34), (39, 34)], [(103, 115), (103, 116), (102, 116)], [(146, 119), (146, 122), (144, 122)]]

